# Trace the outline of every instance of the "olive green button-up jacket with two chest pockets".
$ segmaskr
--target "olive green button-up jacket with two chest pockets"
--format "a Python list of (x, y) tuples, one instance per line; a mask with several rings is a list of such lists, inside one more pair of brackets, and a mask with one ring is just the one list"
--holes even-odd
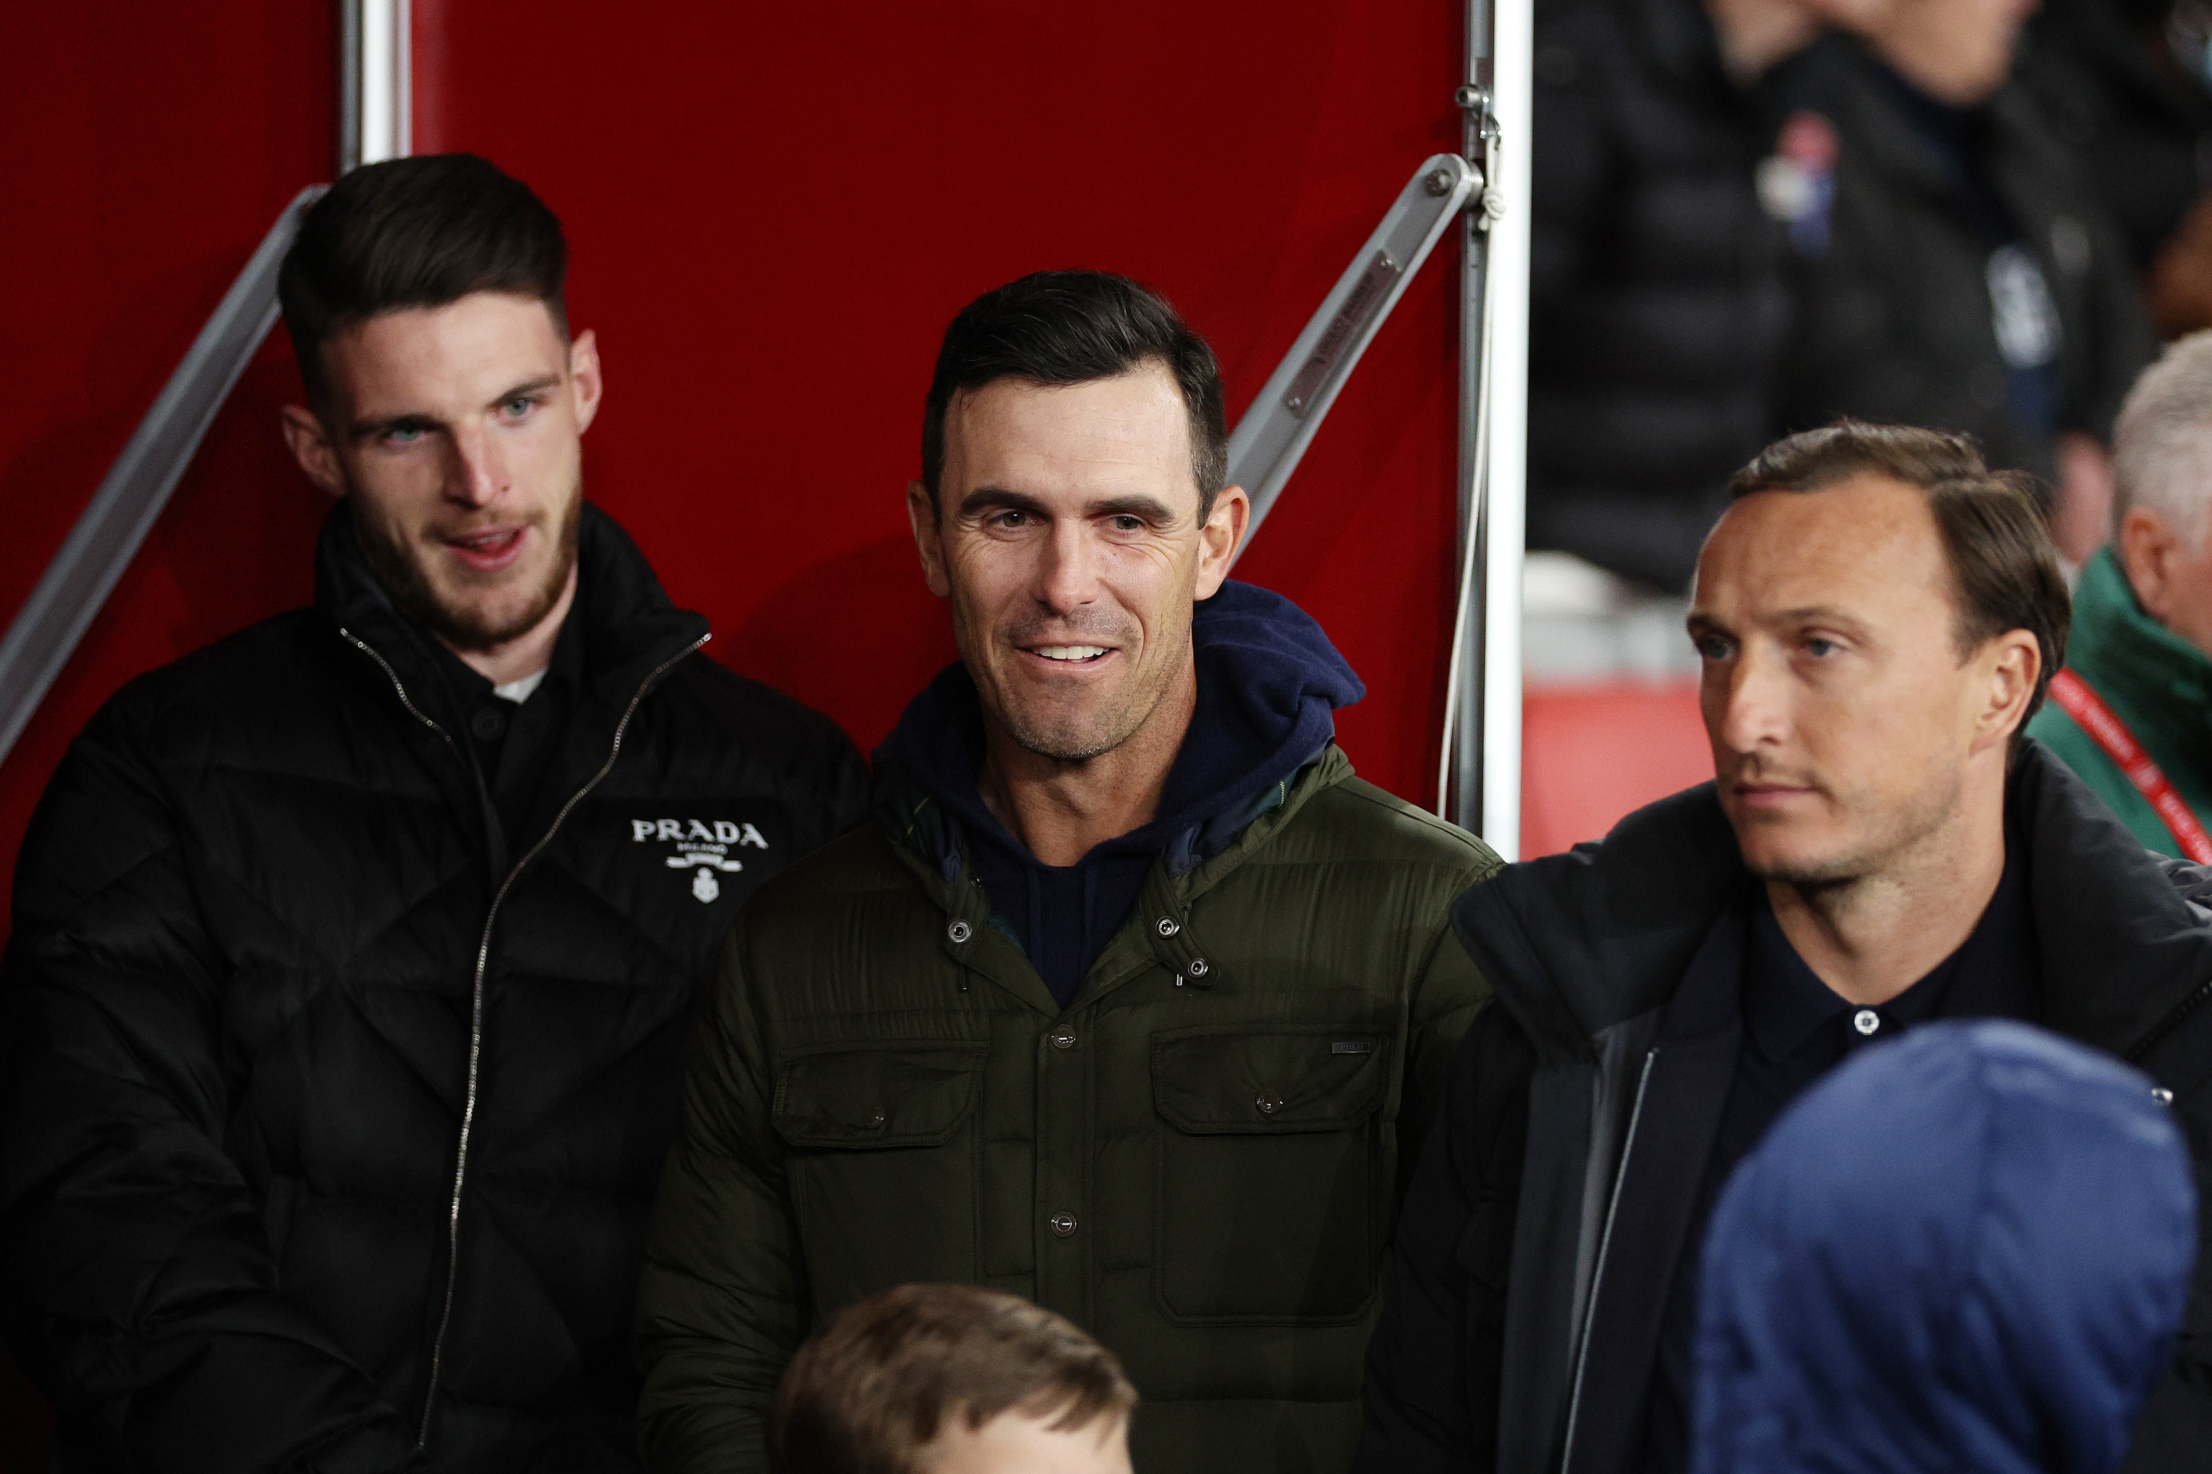
[(936, 807), (768, 882), (723, 948), (637, 1308), (653, 1470), (765, 1470), (827, 1313), (1026, 1295), (1113, 1348), (1141, 1474), (1352, 1465), (1400, 1185), (1486, 997), (1447, 904), (1498, 868), (1327, 754), (1155, 864), (1066, 1008)]

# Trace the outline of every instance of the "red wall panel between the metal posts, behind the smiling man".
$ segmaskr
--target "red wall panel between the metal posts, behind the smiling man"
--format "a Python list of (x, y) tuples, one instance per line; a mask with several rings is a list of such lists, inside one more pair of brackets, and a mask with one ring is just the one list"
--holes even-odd
[[(599, 331), (588, 493), (710, 650), (872, 747), (951, 659), (902, 493), (953, 312), (1128, 272), (1243, 411), (1413, 166), (1455, 148), (1458, 0), (684, 7), (416, 0), (416, 148), (524, 177)], [(1354, 762), (1433, 769), (1453, 533), (1451, 272), (1411, 287), (1241, 577), (1365, 676)]]

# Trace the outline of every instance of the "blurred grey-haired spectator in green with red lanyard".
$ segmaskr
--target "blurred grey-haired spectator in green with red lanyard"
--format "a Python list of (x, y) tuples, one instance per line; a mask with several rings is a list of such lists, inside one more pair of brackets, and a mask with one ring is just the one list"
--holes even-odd
[(2028, 734), (2143, 844), (2212, 864), (2212, 334), (2119, 413), (2115, 537), (2081, 570), (2066, 670)]

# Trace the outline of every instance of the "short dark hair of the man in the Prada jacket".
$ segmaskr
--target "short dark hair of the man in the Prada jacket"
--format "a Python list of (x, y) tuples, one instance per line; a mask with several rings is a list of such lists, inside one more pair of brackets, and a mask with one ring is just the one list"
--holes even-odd
[(327, 391), (323, 345), (383, 312), (473, 292), (531, 296), (568, 336), (568, 241), (531, 188), (469, 152), (365, 164), (307, 208), (276, 301), (307, 396)]

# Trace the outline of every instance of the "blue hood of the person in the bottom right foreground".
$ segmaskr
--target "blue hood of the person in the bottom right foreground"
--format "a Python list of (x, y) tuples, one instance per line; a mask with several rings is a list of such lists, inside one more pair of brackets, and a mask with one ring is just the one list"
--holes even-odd
[(2146, 1076), (1927, 1023), (1805, 1094), (1705, 1240), (1694, 1474), (2110, 1474), (2197, 1257)]

